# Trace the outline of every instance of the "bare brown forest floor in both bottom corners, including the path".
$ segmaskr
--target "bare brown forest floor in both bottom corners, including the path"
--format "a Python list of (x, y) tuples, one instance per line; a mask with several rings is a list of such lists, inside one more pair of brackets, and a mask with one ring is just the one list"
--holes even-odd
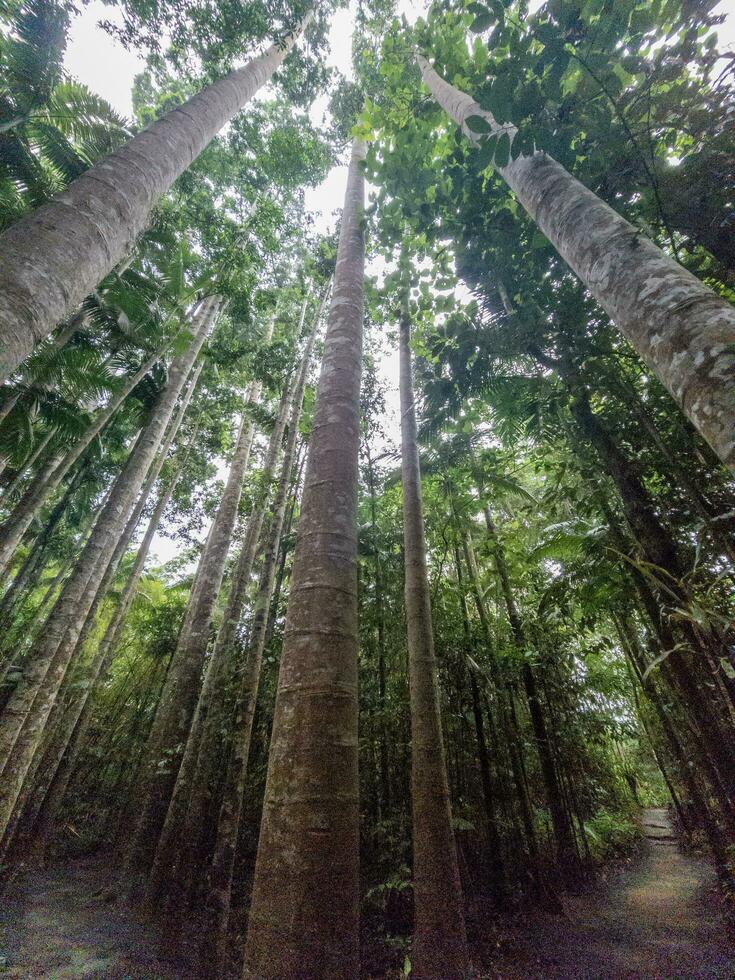
[[(664, 810), (644, 812), (645, 851), (607, 882), (565, 897), (564, 916), (493, 925), (475, 948), (482, 976), (535, 978), (735, 977), (709, 863), (683, 853)], [(114, 901), (98, 859), (28, 872), (3, 896), (0, 976), (195, 980), (159, 955), (156, 934)]]

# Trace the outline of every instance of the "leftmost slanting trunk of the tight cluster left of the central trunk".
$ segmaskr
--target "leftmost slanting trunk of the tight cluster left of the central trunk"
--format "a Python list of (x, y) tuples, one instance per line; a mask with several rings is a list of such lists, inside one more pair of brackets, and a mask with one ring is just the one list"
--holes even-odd
[[(266, 343), (270, 341), (271, 329)], [(257, 400), (259, 393), (260, 385), (254, 382), (248, 400)], [(141, 813), (127, 856), (127, 869), (133, 874), (147, 873), (153, 862), (176, 785), (197, 706), (212, 617), (237, 521), (254, 434), (253, 424), (243, 413), (227, 483), (202, 553), (196, 587), (192, 589), (189, 610), (151, 729), (143, 779), (139, 784)]]

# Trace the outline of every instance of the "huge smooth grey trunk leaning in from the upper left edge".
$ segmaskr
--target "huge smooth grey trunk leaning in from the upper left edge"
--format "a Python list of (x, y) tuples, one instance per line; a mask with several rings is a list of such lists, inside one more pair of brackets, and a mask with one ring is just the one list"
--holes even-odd
[(156, 120), (0, 237), (0, 380), (132, 250), (156, 202), (268, 82), (302, 27)]

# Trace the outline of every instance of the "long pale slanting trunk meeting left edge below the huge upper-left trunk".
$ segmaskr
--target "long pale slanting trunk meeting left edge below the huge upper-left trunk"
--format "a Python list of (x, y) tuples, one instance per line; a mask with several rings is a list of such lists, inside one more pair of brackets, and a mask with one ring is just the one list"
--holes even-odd
[[(0, 764), (4, 766), (0, 787), (0, 832), (7, 827), (97, 587), (218, 306), (214, 300), (203, 304), (194, 339), (188, 351), (172, 364), (168, 385), (115, 482), (79, 562), (29, 655), (23, 679), (0, 717)], [(108, 556), (106, 560), (105, 556)]]

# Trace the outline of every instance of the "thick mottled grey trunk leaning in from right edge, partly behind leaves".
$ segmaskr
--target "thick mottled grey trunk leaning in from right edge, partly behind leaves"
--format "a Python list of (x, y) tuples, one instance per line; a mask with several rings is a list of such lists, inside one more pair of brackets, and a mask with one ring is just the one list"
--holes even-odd
[[(418, 62), (437, 102), (469, 139), (480, 139), (466, 123), (473, 115), (513, 138), (514, 127), (499, 126), (421, 55)], [(735, 467), (735, 308), (548, 154), (519, 156), (499, 173), (720, 459)]]

